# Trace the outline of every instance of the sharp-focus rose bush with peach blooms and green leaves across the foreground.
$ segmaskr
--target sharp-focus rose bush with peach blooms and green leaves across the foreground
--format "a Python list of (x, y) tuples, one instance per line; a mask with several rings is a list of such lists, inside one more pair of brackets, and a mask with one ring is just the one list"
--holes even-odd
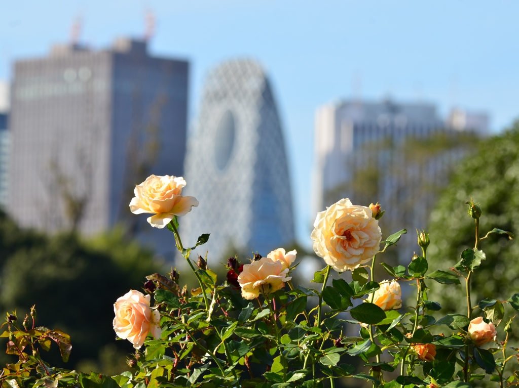
[[(180, 182), (168, 177), (157, 183), (156, 178), (148, 178), (155, 182), (153, 190), (146, 189), (148, 198), (166, 198), (173, 190), (167, 182)], [(172, 214), (171, 209), (164, 213)], [(226, 280), (218, 282), (208, 256), (198, 256), (196, 262), (190, 258), (209, 235), (202, 234), (194, 247), (184, 247), (174, 215), (166, 226), (198, 287), (189, 291), (181, 286), (180, 274), (173, 269), (167, 276), (149, 275), (145, 293), (131, 290), (117, 299), (113, 326), (116, 335), (135, 348), (128, 358), (132, 370), (110, 377), (51, 367), (40, 351), (55, 342), (66, 360), (72, 350), (70, 338), (59, 329), (36, 326), (33, 309), (23, 328), (16, 313), (7, 315), (2, 336), (8, 338), (7, 353), (18, 361), (4, 368), (2, 387), (323, 388), (335, 387), (342, 379), (359, 379), (383, 388), (469, 388), (486, 376), (501, 387), (518, 385), (519, 376), (508, 373), (506, 366), (519, 357), (519, 349), (507, 346), (519, 293), (507, 300), (484, 299), (474, 307), (470, 293), (471, 275), (485, 260), (482, 240), (507, 232), (493, 229), (481, 237), (482, 210), (469, 202), (475, 245), (461, 253), (457, 264), (429, 271), (429, 235), (417, 231), (421, 255), (407, 267), (379, 261), (393, 280), (377, 282), (377, 260), (406, 231), (381, 241), (376, 218), (384, 211), (376, 210), (374, 217), (370, 208), (343, 199), (318, 215), (312, 237), (326, 266), (313, 276), (312, 282), (319, 285), (315, 289), (292, 284), (289, 272), (297, 270), (296, 252), (283, 248), (266, 257), (255, 254), (250, 261), (230, 257)], [(347, 282), (339, 273), (329, 282), (332, 269), (351, 271), (352, 280)], [(461, 286), (460, 278), (466, 284), (466, 314), (442, 317), (441, 306), (428, 300), (427, 284), (435, 281), (455, 288)], [(404, 284), (416, 287), (413, 306), (402, 305)], [(504, 306), (510, 306), (513, 316), (497, 330)], [(472, 319), (475, 314), (478, 317)], [(490, 341), (496, 342), (485, 345)], [(348, 364), (351, 357), (359, 362)]]

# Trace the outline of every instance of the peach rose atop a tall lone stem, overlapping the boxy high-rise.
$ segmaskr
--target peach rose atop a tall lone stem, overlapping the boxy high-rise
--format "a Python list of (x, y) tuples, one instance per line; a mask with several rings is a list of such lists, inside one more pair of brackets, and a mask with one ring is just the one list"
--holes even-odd
[(135, 186), (135, 197), (130, 202), (133, 214), (155, 214), (148, 218), (150, 225), (163, 228), (175, 217), (186, 215), (193, 206), (198, 206), (195, 197), (183, 197), (186, 181), (182, 177), (151, 175)]

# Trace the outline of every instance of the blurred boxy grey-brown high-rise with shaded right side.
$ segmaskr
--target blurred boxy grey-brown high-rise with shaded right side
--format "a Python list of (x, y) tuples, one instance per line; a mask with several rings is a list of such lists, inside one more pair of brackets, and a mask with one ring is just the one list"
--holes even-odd
[(188, 63), (150, 56), (144, 41), (121, 38), (99, 51), (55, 46), (45, 58), (17, 61), (12, 217), (87, 234), (124, 219), (136, 183), (183, 174), (187, 93)]

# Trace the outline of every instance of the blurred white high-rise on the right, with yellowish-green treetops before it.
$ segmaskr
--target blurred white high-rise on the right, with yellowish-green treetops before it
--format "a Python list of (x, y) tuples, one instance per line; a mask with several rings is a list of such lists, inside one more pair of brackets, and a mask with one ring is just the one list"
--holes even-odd
[[(427, 226), (449, 173), (475, 141), (473, 133), (445, 129), (430, 104), (360, 101), (318, 109), (312, 189), (313, 213), (340, 198), (387, 209), (384, 237)], [(465, 132), (464, 132), (465, 131)], [(398, 254), (408, 259), (416, 238), (405, 236)]]

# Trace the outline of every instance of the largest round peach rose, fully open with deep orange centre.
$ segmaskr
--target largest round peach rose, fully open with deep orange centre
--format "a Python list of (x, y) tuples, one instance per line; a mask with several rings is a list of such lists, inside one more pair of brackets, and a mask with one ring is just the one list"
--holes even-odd
[(370, 208), (341, 199), (317, 214), (313, 250), (337, 272), (353, 270), (378, 252), (382, 232)]

